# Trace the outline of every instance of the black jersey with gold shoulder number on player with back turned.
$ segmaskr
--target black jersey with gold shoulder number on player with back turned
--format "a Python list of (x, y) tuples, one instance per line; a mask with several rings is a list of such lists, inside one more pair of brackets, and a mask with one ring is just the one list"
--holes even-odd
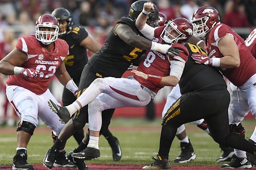
[[(204, 89), (216, 90), (215, 85), (219, 85), (218, 87), (222, 87), (223, 85), (227, 88), (227, 84), (217, 68), (204, 64), (198, 64), (191, 57), (193, 53), (206, 54), (206, 52), (198, 45), (186, 43), (185, 46), (189, 50), (189, 57), (180, 78), (180, 93), (185, 94), (187, 92), (200, 91)], [(197, 75), (195, 76), (195, 74)]]

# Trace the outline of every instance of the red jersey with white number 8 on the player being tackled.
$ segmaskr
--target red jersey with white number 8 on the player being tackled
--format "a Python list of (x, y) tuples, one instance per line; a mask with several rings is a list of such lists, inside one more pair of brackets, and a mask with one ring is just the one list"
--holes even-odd
[[(163, 40), (160, 37), (165, 26), (161, 26), (154, 31), (154, 39), (152, 41), (161, 43)], [(184, 46), (184, 45), (180, 45)], [(176, 48), (176, 47), (175, 47)], [(184, 48), (186, 48), (184, 46)], [(156, 76), (166, 77), (170, 75), (170, 66), (171, 60), (180, 60), (181, 62), (186, 62), (188, 60), (188, 51), (186, 54), (180, 52), (180, 55), (177, 57), (169, 57), (168, 54), (163, 54), (158, 51), (145, 51), (145, 57), (140, 62), (139, 67), (137, 68), (138, 71), (141, 71), (145, 74), (151, 74)], [(150, 89), (151, 91), (158, 92), (163, 85), (158, 85), (155, 82), (145, 80), (141, 77), (134, 75), (134, 79), (140, 82), (141, 85)]]

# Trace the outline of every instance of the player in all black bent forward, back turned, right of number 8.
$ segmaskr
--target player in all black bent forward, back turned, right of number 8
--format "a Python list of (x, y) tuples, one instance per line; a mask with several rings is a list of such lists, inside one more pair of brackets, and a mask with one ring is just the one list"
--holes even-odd
[[(141, 28), (139, 29), (141, 30)], [(142, 27), (142, 30), (148, 31), (149, 28)], [(173, 29), (169, 30), (173, 31)], [(170, 37), (169, 34), (165, 34), (165, 36), (166, 38)], [(143, 169), (170, 169), (169, 151), (177, 127), (202, 118), (206, 120), (212, 138), (216, 142), (250, 153), (254, 153), (256, 150), (256, 146), (239, 134), (230, 133), (227, 113), (230, 94), (223, 76), (213, 67), (196, 65), (191, 56), (202, 54), (207, 57), (206, 53), (198, 45), (185, 45), (189, 50), (189, 57), (179, 82), (182, 95), (163, 117), (157, 158), (153, 158), (155, 161), (144, 166)]]

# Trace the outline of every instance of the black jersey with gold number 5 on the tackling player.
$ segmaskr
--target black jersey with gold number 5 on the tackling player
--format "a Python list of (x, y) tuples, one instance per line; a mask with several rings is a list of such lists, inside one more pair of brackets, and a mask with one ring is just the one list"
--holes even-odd
[[(140, 34), (135, 26), (135, 21), (129, 15), (122, 17), (116, 23), (108, 34), (105, 44), (88, 62), (90, 70), (101, 74), (103, 77), (121, 77), (131, 63), (145, 52), (126, 44), (119, 38), (115, 33), (119, 24), (127, 24), (136, 34)], [(140, 35), (142, 36), (142, 34)]]

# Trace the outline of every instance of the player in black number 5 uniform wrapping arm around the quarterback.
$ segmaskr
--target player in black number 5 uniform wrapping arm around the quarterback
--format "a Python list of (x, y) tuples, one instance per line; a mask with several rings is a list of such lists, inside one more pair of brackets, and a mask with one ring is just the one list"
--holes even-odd
[[(129, 14), (122, 17), (121, 20), (116, 23), (108, 35), (105, 44), (89, 59), (81, 75), (78, 97), (86, 91), (88, 86), (96, 78), (121, 77), (129, 65), (139, 59), (146, 49), (160, 51), (164, 54), (167, 53), (170, 45), (145, 39), (135, 26), (135, 20), (142, 11), (145, 2), (148, 1), (139, 0), (131, 5)], [(157, 24), (159, 20), (157, 7), (148, 15), (148, 19), (151, 19), (150, 24)], [(103, 111), (101, 134), (108, 129), (113, 111), (114, 109)], [(70, 113), (64, 116), (62, 115), (62, 117), (68, 120), (70, 119)], [(65, 124), (55, 144), (47, 151), (45, 156), (47, 162), (45, 164), (48, 164), (48, 167), (52, 167), (52, 163), (54, 162), (54, 150), (59, 150), (62, 144), (65, 143), (77, 129), (83, 128), (87, 121), (88, 106), (86, 105), (84, 108), (81, 108), (80, 111), (77, 111), (72, 119)], [(79, 147), (71, 153), (78, 153), (85, 147), (85, 144), (81, 142)], [(117, 149), (119, 150), (119, 158), (117, 159), (120, 159), (120, 147)]]

